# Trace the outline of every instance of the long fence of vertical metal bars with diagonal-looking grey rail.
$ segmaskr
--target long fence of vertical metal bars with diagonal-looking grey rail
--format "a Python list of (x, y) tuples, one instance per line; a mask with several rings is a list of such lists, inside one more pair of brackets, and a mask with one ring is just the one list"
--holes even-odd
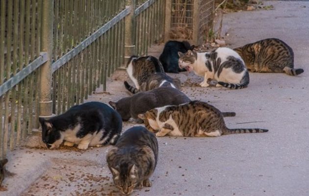
[(0, 157), (38, 128), (39, 116), (82, 103), (105, 89), (125, 57), (147, 54), (163, 38), (164, 7), (164, 0), (1, 0)]

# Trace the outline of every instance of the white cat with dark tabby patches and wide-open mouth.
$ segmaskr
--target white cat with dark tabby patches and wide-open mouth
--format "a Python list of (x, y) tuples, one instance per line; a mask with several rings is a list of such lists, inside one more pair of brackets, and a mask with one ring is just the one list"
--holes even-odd
[(218, 48), (211, 52), (195, 52), (188, 50), (179, 52), (179, 66), (187, 71), (203, 76), (202, 87), (209, 86), (211, 80), (216, 86), (230, 89), (245, 88), (249, 84), (249, 73), (239, 54), (229, 48)]

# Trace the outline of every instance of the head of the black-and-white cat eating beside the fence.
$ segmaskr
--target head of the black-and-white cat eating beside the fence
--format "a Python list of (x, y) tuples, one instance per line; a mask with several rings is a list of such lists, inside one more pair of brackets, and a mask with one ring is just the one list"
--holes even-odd
[(51, 121), (44, 118), (39, 118), (42, 126), (42, 140), (48, 148), (59, 147), (63, 142), (63, 135), (60, 130), (57, 130)]

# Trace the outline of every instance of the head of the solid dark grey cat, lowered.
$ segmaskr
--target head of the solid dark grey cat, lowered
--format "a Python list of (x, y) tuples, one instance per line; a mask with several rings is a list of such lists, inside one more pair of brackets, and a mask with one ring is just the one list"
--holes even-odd
[(130, 97), (122, 98), (117, 102), (109, 101), (108, 104), (120, 114), (123, 121), (129, 121), (129, 119), (131, 118)]

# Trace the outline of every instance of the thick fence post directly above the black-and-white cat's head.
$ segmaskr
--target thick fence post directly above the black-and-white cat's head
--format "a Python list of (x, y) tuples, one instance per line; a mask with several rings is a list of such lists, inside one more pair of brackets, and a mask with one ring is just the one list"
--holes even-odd
[(41, 51), (47, 53), (48, 61), (40, 68), (40, 117), (52, 116), (52, 30), (53, 0), (43, 0)]

